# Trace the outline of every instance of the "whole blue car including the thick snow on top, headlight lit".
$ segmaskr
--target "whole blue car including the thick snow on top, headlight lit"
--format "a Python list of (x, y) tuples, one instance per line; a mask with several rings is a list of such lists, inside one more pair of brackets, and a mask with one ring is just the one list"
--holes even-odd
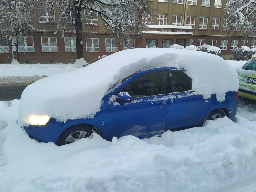
[(40, 142), (106, 140), (201, 127), (236, 115), (238, 77), (221, 57), (194, 50), (129, 49), (29, 85), (19, 125)]

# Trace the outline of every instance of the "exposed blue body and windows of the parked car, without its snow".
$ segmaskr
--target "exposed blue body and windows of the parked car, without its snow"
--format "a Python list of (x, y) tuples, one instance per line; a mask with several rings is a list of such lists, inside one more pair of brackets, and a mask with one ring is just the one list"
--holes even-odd
[[(220, 102), (195, 94), (193, 79), (186, 70), (158, 67), (137, 71), (102, 98), (94, 118), (59, 122), (49, 118), (45, 125), (25, 126), (27, 134), (39, 142), (65, 145), (91, 137), (93, 132), (106, 140), (134, 135), (152, 137), (167, 130), (201, 127), (206, 120), (233, 118), (238, 107), (238, 92), (229, 91)], [(202, 82), (203, 83), (203, 82)], [(115, 86), (117, 86), (115, 88)]]

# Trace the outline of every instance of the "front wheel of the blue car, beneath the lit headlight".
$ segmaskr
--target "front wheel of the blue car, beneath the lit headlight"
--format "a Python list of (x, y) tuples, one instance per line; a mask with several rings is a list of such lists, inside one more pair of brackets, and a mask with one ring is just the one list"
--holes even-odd
[(91, 137), (93, 128), (86, 125), (75, 125), (66, 129), (59, 137), (57, 145), (66, 145), (78, 139)]

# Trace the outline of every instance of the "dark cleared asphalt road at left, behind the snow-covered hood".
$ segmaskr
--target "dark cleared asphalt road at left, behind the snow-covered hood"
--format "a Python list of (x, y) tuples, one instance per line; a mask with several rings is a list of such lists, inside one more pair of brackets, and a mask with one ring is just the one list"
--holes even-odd
[(24, 84), (6, 84), (0, 85), (0, 101), (20, 99), (21, 93), (28, 85)]

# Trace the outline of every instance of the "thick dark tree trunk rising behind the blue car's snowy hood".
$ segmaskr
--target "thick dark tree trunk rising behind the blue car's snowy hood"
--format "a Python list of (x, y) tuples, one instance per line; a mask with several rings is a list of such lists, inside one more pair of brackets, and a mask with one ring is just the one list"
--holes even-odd
[(76, 57), (77, 59), (84, 58), (84, 45), (82, 36), (82, 17), (81, 5), (77, 4), (75, 7), (75, 27), (76, 27)]

